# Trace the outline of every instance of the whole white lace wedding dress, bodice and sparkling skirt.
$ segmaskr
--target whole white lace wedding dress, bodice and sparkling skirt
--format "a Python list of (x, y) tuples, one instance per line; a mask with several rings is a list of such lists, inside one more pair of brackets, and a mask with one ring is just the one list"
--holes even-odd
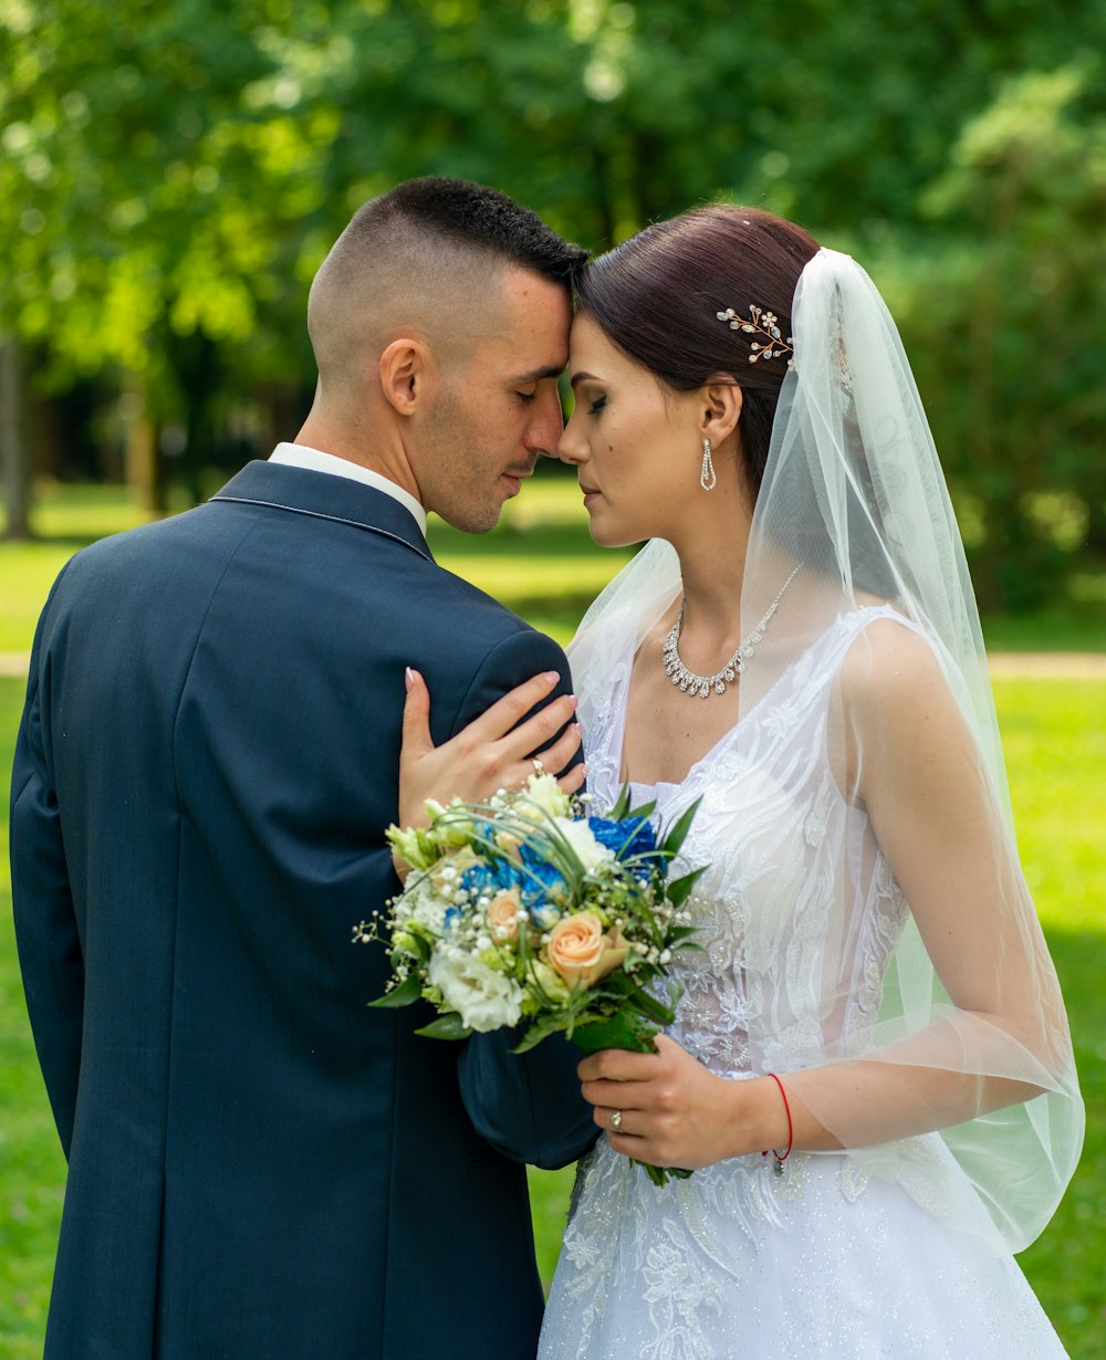
[[(841, 797), (826, 725), (845, 651), (883, 617), (902, 622), (888, 608), (842, 619), (682, 785), (635, 789), (638, 802), (656, 797), (669, 824), (703, 798), (684, 846), (690, 864), (710, 864), (692, 899), (703, 951), (680, 963), (669, 1032), (720, 1076), (811, 1061), (827, 967), (852, 979), (833, 1017), (843, 1034), (879, 1009), (907, 908), (867, 817)], [(600, 805), (619, 790), (629, 679), (627, 657), (588, 732)], [(846, 855), (826, 853), (842, 843)], [(856, 919), (848, 938), (828, 942), (827, 876), (842, 872), (858, 885)], [(778, 1025), (751, 1053), (748, 1017), (766, 1000)], [(890, 1180), (845, 1155), (794, 1152), (782, 1175), (754, 1153), (665, 1187), (601, 1137), (578, 1170), (540, 1357), (1062, 1356), (1013, 1258), (950, 1225), (952, 1198), (978, 1205), (937, 1134), (910, 1140)]]

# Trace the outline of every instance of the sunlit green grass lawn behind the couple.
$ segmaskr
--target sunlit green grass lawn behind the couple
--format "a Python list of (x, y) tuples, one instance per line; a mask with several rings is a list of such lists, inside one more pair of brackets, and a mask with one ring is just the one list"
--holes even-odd
[[(35, 526), (49, 537), (0, 545), (0, 651), (30, 645), (50, 581), (75, 547), (136, 520), (116, 490), (83, 488), (44, 500)], [(437, 525), (433, 540), (439, 560), (509, 598), (562, 639), (586, 600), (626, 559), (592, 547), (575, 490), (551, 477), (529, 487), (494, 533), (473, 540)], [(1091, 582), (1088, 597), (1095, 589)], [(1000, 636), (1004, 626), (1009, 646), (1106, 650), (1106, 628), (1079, 608), (1057, 615), (1043, 635), (1034, 635), (1024, 623), (999, 622)], [(0, 679), (3, 770), (11, 767), (22, 694), (22, 680)], [(1068, 1000), (1088, 1106), (1087, 1144), (1075, 1180), (1048, 1231), (1020, 1261), (1069, 1353), (1076, 1360), (1099, 1360), (1106, 1357), (1106, 994), (1101, 983), (1106, 963), (1106, 785), (1101, 774), (1106, 681), (1000, 680), (996, 699), (1019, 843)], [(15, 963), (5, 824), (0, 840), (0, 1356), (30, 1360), (42, 1352), (64, 1166)], [(531, 1176), (547, 1280), (570, 1183), (570, 1172)]]

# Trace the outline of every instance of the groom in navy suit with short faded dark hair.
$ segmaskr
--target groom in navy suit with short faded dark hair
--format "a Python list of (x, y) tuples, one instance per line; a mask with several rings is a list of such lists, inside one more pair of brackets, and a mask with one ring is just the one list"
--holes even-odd
[(424, 528), (491, 528), (555, 450), (582, 257), (477, 185), (366, 204), (312, 287), (295, 443), (54, 586), (11, 816), (69, 1159), (48, 1360), (536, 1349), (521, 1161), (592, 1141), (575, 1058), (367, 1009), (386, 959), (351, 928), (397, 889), (405, 668), (438, 743), (535, 673), (567, 692)]

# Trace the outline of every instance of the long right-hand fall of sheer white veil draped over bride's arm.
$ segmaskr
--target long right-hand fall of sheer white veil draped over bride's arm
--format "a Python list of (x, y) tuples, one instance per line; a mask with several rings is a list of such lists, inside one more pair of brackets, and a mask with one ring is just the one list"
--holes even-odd
[[(831, 1066), (792, 1084), (846, 1148), (869, 1149), (857, 1151), (869, 1170), (920, 1179), (943, 1212), (993, 1225), (1018, 1250), (1072, 1175), (1083, 1106), (1018, 860), (963, 545), (902, 343), (867, 273), (819, 252), (792, 320), (796, 367), (754, 514), (741, 613), (756, 616), (792, 559), (807, 588), (743, 677), (743, 714), (842, 612), (886, 601), (911, 626), (862, 632), (831, 714), (846, 796), (867, 813), (909, 911), (876, 1020), (841, 1036), (828, 1023)], [(846, 899), (857, 891), (854, 874), (835, 883)], [(837, 903), (846, 932), (857, 906)], [(835, 1058), (849, 1059), (845, 1072)], [(925, 1129), (941, 1129), (985, 1221), (951, 1198), (937, 1168), (907, 1168), (909, 1136)]]

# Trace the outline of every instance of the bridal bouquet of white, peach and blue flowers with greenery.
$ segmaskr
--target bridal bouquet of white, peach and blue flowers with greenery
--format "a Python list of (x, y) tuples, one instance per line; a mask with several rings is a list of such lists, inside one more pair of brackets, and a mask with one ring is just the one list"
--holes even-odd
[[(703, 870), (668, 868), (697, 808), (658, 843), (653, 804), (631, 811), (624, 790), (594, 816), (550, 774), (486, 804), (429, 801), (427, 827), (388, 830), (411, 868), (404, 891), (354, 929), (392, 951), (373, 1005), (429, 1001), (438, 1019), (418, 1032), (435, 1039), (517, 1025), (516, 1053), (558, 1031), (584, 1053), (654, 1051), (680, 996), (673, 953), (695, 948), (684, 903)], [(646, 1170), (657, 1185), (690, 1175)]]

